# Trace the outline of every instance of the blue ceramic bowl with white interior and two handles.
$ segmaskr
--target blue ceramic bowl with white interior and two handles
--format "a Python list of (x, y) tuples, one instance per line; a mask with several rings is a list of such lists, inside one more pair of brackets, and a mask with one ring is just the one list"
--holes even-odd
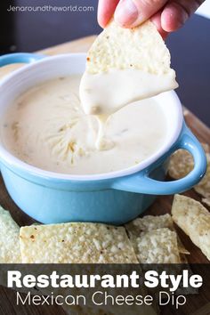
[[(43, 57), (17, 53), (0, 58), (0, 66), (30, 62), (0, 82), (0, 117), (12, 101), (29, 87), (52, 77), (83, 73), (85, 54)], [(182, 106), (174, 92), (158, 95), (168, 124), (163, 147), (137, 166), (109, 174), (68, 175), (46, 172), (20, 161), (0, 141), (0, 166), (5, 186), (26, 214), (43, 223), (107, 222), (122, 224), (145, 211), (157, 195), (189, 190), (206, 172), (206, 156), (185, 125)], [(164, 182), (167, 158), (187, 149), (194, 169), (174, 182)]]

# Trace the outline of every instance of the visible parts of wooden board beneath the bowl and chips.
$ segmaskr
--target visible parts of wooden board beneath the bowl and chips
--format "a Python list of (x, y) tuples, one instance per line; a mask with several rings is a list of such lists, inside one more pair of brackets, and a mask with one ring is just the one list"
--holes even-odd
[[(68, 53), (68, 52), (86, 52), (90, 45), (93, 43), (94, 36), (88, 36), (70, 43), (61, 44), (52, 48), (48, 48), (40, 53), (47, 55), (59, 54), (59, 53)], [(0, 77), (3, 77), (6, 73), (10, 72), (12, 67), (5, 69), (0, 69)], [(199, 141), (206, 142), (210, 145), (210, 129), (204, 125), (198, 117), (195, 117), (188, 109), (184, 109), (184, 116), (193, 133), (196, 134)], [(16, 206), (12, 198), (8, 195), (2, 178), (0, 177), (0, 205), (4, 206), (5, 209), (9, 209), (13, 219), (20, 224), (20, 226), (28, 225), (34, 222), (28, 215), (21, 212), (20, 208)], [(189, 190), (185, 193), (186, 196), (201, 200), (198, 194), (194, 190)], [(149, 207), (146, 214), (166, 214), (170, 213), (171, 205), (173, 201), (173, 196), (163, 196), (158, 197), (156, 202)], [(190, 251), (188, 260), (190, 263), (209, 263), (206, 259), (206, 256), (201, 253), (197, 246), (194, 246), (188, 238), (180, 229), (177, 229), (182, 243)], [(1, 314), (64, 314), (65, 312), (58, 306), (51, 306), (50, 308), (46, 307), (23, 307), (19, 311), (15, 312), (15, 303), (14, 292), (12, 290), (0, 288), (0, 295), (4, 296), (4, 304), (0, 303), (0, 313)], [(13, 302), (12, 302), (13, 301)], [(202, 309), (201, 309), (202, 307)], [(188, 299), (188, 303), (182, 306), (182, 314), (190, 314), (197, 311), (199, 314), (207, 315), (210, 314), (210, 304), (206, 295), (199, 295), (198, 298), (193, 296)], [(200, 311), (200, 312), (199, 312)], [(161, 311), (162, 314), (174, 314), (174, 311)], [(176, 312), (178, 314), (178, 312)]]

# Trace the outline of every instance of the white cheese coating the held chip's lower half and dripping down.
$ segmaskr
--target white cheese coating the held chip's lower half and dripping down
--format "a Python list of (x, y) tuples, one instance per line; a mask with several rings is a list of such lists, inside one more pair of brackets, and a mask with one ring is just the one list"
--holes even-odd
[(167, 73), (150, 74), (139, 69), (109, 69), (107, 72), (90, 74), (85, 71), (79, 95), (87, 115), (95, 115), (100, 132), (97, 149), (111, 149), (113, 142), (104, 136), (105, 123), (110, 115), (125, 105), (140, 101), (158, 93), (178, 87), (174, 69)]

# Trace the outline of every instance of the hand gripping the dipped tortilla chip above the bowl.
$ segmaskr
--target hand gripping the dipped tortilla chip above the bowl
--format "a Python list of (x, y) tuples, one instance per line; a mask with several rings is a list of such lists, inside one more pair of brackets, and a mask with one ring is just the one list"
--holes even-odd
[(114, 15), (124, 28), (133, 28), (143, 21), (152, 20), (159, 33), (181, 28), (204, 0), (99, 0), (98, 20), (104, 28)]

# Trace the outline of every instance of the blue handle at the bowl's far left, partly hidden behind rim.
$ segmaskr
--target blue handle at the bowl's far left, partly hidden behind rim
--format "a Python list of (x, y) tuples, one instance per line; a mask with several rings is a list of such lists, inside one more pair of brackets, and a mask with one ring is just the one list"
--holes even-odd
[(30, 63), (43, 59), (45, 56), (29, 52), (7, 53), (0, 57), (0, 67), (4, 67), (11, 63)]

